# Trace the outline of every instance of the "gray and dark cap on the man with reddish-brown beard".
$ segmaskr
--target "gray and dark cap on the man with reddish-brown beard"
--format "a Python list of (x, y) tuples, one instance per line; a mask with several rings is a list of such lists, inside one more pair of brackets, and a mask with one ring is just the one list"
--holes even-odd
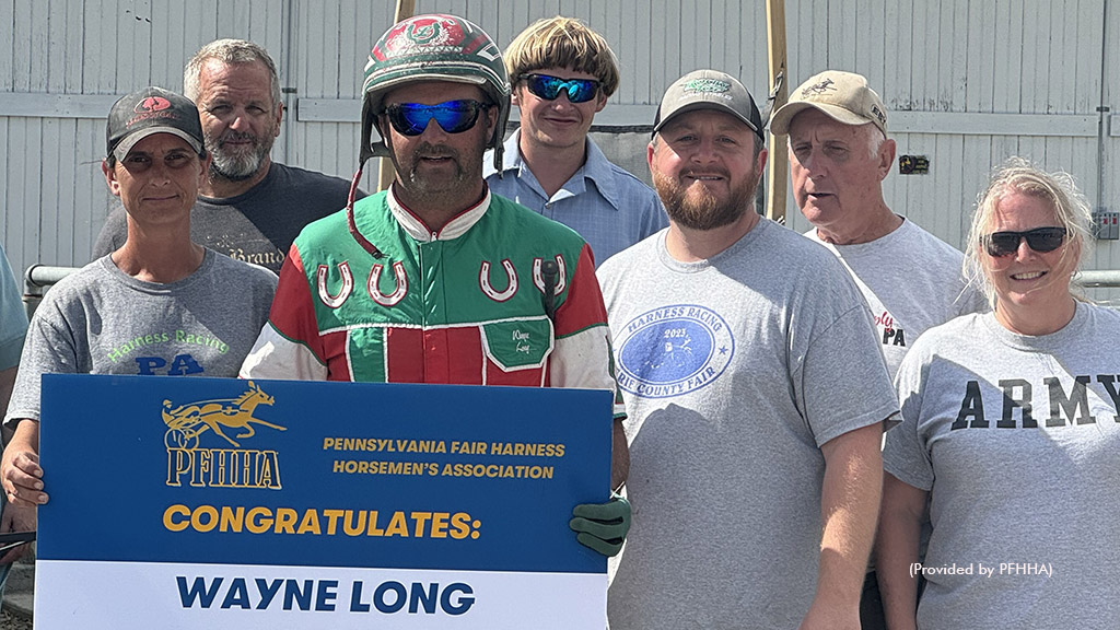
[(696, 110), (726, 111), (763, 138), (763, 117), (750, 93), (734, 76), (715, 70), (690, 72), (673, 82), (661, 100), (653, 132), (661, 131), (673, 117)]

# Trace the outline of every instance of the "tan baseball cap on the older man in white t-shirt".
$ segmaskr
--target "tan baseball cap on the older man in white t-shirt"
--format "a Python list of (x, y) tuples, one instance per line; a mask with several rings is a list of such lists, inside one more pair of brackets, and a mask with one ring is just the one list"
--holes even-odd
[(827, 70), (813, 75), (790, 94), (790, 102), (771, 117), (771, 132), (790, 132), (790, 121), (813, 108), (844, 124), (871, 124), (887, 135), (887, 108), (867, 85), (867, 77), (851, 72)]

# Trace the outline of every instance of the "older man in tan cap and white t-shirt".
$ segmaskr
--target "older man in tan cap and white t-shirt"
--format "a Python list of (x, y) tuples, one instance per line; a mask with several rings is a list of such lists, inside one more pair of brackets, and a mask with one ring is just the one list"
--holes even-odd
[[(809, 78), (774, 112), (771, 131), (790, 136), (793, 196), (813, 224), (805, 235), (829, 248), (864, 293), (892, 378), (926, 328), (983, 308), (961, 275), (963, 254), (887, 206), (895, 141), (867, 78), (834, 70)], [(884, 628), (874, 571), (861, 614), (865, 630)]]

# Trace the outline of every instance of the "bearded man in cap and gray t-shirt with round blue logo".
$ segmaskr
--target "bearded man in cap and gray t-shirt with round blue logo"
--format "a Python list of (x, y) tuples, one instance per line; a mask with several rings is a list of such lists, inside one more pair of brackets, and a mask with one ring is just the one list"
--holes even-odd
[(674, 81), (646, 157), (669, 229), (598, 271), (634, 507), (610, 627), (859, 628), (897, 410), (864, 298), (755, 212), (763, 121), (736, 78)]

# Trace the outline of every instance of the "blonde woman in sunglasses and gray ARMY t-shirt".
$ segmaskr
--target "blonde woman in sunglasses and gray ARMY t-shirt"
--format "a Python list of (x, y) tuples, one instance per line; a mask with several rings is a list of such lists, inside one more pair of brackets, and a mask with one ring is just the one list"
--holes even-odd
[(1101, 343), (1120, 313), (1072, 290), (1090, 226), (1068, 176), (1021, 159), (981, 196), (965, 265), (993, 312), (930, 330), (896, 379), (876, 547), (893, 629), (1120, 628), (1120, 353)]

